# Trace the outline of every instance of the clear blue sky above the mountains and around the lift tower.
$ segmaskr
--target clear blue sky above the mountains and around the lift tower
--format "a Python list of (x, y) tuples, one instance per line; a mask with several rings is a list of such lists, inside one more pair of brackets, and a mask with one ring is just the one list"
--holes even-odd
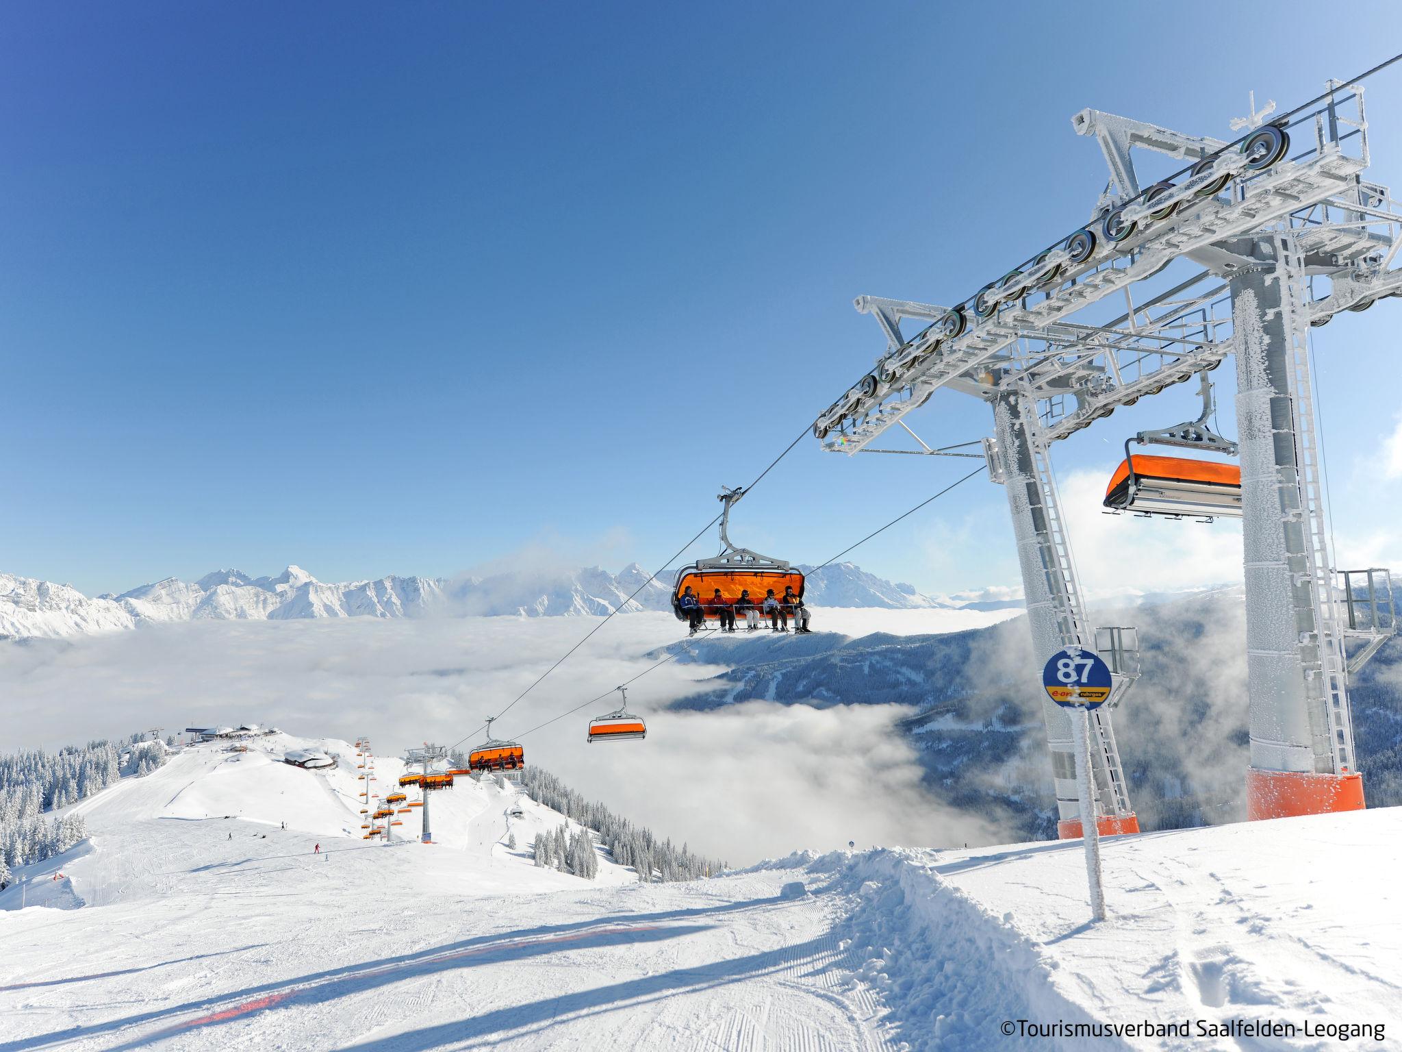
[[(0, 569), (101, 592), (523, 548), (653, 568), (883, 349), (854, 295), (952, 302), (1085, 220), (1105, 168), (1075, 111), (1227, 136), (1248, 90), (1286, 109), (1402, 39), (1391, 4), (1367, 32), (1319, 10), (10, 6)], [(1402, 69), (1368, 98), (1392, 182)], [(1402, 504), (1368, 470), (1398, 310), (1318, 334), (1359, 537)], [(1116, 414), (1059, 470), (1109, 471), (1189, 408)], [(988, 414), (948, 396), (913, 424), (955, 442)], [(733, 536), (820, 562), (965, 463), (809, 438)], [(956, 494), (852, 557), (1015, 584), (1001, 490)]]

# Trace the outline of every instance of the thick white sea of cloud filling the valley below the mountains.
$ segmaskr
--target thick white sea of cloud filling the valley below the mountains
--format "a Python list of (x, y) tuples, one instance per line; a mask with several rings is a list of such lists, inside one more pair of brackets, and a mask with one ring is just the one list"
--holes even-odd
[[(257, 721), (386, 750), (453, 743), (501, 711), (593, 624), (576, 617), (203, 621), (0, 647), (4, 748), (160, 725)], [(519, 735), (604, 694), (677, 638), (667, 614), (615, 619), (498, 725)], [(527, 757), (658, 833), (728, 858), (861, 844), (990, 843), (944, 809), (893, 722), (899, 707), (749, 703), (665, 713), (714, 668), (669, 663), (629, 689), (645, 742), (589, 745), (600, 701), (524, 738)]]

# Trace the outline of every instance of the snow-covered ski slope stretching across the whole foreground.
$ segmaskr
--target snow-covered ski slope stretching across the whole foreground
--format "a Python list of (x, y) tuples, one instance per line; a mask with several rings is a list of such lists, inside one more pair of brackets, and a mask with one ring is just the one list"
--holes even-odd
[[(343, 762), (279, 764), (289, 746)], [(586, 882), (531, 867), (545, 808), (503, 846), (495, 785), (437, 794), (432, 846), (367, 844), (353, 749), (252, 748), (195, 748), (76, 805), (91, 842), (0, 892), (0, 1052), (1323, 1049), (1338, 1034), (1307, 1027), (1402, 1027), (1398, 809), (1108, 840), (1110, 917), (1091, 924), (1077, 843), (673, 885), (604, 860)], [(1202, 1032), (1232, 1020), (1295, 1035)]]

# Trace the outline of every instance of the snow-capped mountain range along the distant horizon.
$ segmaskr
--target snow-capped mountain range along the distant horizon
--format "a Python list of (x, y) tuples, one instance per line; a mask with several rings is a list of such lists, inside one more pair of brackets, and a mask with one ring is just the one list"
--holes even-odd
[[(637, 593), (637, 595), (635, 595)], [(960, 607), (892, 584), (851, 562), (812, 572), (815, 606), (886, 609)], [(254, 578), (217, 569), (198, 581), (165, 578), (122, 595), (90, 598), (72, 585), (0, 574), (0, 638), (57, 638), (195, 620), (297, 620), (320, 617), (590, 616), (613, 610), (669, 610), (672, 575), (648, 581), (637, 562), (610, 574), (582, 569), (512, 569), (457, 578), (383, 576), (328, 584), (300, 567)]]

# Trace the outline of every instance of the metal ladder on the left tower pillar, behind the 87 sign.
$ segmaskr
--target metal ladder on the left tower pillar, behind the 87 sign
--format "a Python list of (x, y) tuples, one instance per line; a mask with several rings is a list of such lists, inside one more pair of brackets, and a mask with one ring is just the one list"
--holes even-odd
[[(1057, 606), (1057, 630), (1061, 634), (1061, 645), (1091, 649), (1094, 637), (1088, 635), (1081, 623), (1081, 579), (1071, 557), (1071, 546), (1066, 540), (1066, 527), (1061, 523), (1061, 498), (1057, 495), (1052, 460), (1040, 436), (1033, 433), (1029, 438), (1028, 445), (1032, 450), (1037, 490), (1046, 495), (1042, 502), (1046, 522), (1042, 569), (1047, 576), (1047, 592)], [(1130, 814), (1130, 801), (1124, 785), (1124, 769), (1120, 764), (1119, 743), (1115, 741), (1115, 728), (1110, 725), (1109, 713), (1105, 708), (1096, 708), (1089, 713), (1089, 717), (1092, 781), (1096, 795), (1101, 798), (1101, 808), (1106, 815), (1126, 818)]]

